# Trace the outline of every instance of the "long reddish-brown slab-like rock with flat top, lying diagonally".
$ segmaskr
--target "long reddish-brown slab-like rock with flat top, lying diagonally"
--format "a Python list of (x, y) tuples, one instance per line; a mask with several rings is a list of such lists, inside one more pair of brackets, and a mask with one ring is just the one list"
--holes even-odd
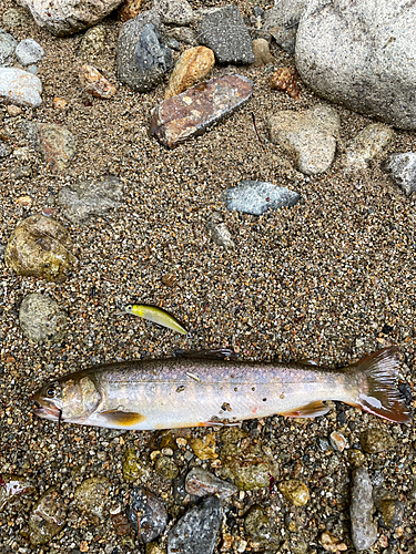
[(192, 86), (154, 110), (150, 134), (173, 148), (239, 110), (248, 101), (252, 91), (253, 82), (242, 75), (225, 75)]

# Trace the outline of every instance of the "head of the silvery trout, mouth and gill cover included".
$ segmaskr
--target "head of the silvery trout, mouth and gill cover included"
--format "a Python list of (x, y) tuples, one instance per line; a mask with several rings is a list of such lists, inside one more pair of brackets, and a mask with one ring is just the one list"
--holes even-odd
[(33, 413), (52, 421), (82, 422), (101, 400), (95, 382), (84, 373), (50, 381), (31, 398)]

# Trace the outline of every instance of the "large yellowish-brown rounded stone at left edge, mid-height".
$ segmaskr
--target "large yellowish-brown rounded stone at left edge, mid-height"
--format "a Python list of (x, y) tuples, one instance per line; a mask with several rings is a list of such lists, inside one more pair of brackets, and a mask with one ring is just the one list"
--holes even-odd
[(16, 227), (6, 247), (4, 261), (18, 275), (62, 281), (77, 261), (71, 249), (65, 227), (37, 214)]

